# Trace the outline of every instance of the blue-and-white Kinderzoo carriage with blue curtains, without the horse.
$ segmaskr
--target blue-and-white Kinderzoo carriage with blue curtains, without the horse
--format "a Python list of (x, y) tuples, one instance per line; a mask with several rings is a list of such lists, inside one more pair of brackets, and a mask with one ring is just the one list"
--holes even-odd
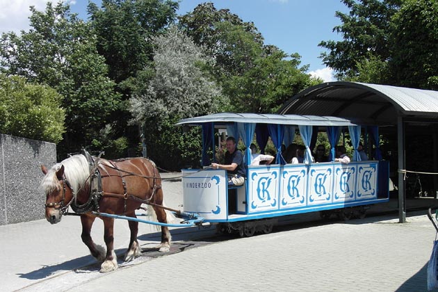
[[(341, 218), (362, 217), (367, 205), (389, 200), (389, 163), (380, 160), (378, 127), (362, 127), (339, 117), (252, 113), (218, 113), (178, 124), (202, 127), (202, 164), (206, 167), (202, 171), (182, 171), (184, 211), (200, 214), (204, 220), (217, 223), (222, 231), (236, 231), (241, 236), (266, 233), (279, 216), (314, 211), (321, 211), (323, 217), (332, 213)], [(357, 149), (362, 128), (373, 137), (377, 160), (361, 161), (354, 152), (350, 163), (334, 162), (340, 134), (348, 129), (353, 148)], [(208, 168), (209, 149), (216, 149), (213, 141), (218, 129), (226, 129), (228, 136), (236, 140), (240, 137), (246, 146), (248, 170), (243, 186), (229, 187), (226, 170)], [(293, 143), (298, 131), (306, 147), (304, 163), (289, 164), (284, 161), (282, 144)], [(332, 147), (327, 163), (312, 163), (310, 149), (319, 131), (327, 133)], [(275, 163), (250, 165), (249, 145), (254, 133), (262, 152), (270, 136), (277, 149)]]

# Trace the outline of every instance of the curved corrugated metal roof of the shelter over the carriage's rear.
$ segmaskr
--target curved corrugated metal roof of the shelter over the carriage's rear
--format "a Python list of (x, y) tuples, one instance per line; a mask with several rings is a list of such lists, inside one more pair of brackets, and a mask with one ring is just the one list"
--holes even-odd
[(438, 91), (336, 81), (303, 90), (279, 114), (331, 115), (361, 123), (397, 124), (397, 117), (437, 117)]

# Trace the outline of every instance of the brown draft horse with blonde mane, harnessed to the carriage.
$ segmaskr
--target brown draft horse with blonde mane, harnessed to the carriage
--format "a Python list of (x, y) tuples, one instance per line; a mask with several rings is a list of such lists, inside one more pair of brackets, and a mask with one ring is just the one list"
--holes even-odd
[[(95, 218), (92, 211), (136, 217), (136, 209), (143, 202), (152, 203), (159, 222), (166, 223), (165, 210), (156, 205), (163, 204), (163, 190), (161, 177), (155, 165), (143, 158), (107, 161), (97, 159), (94, 168), (90, 167), (86, 156), (76, 154), (68, 159), (55, 164), (44, 172), (42, 189), (47, 196), (46, 219), (55, 224), (61, 216), (67, 213), (69, 206), (76, 213), (81, 214), (83, 243), (88, 246), (93, 257), (102, 262), (101, 272), (109, 272), (117, 268), (117, 257), (113, 247), (114, 219), (99, 216), (104, 221), (105, 249), (96, 245), (90, 236), (90, 231)], [(92, 168), (92, 169), (90, 169)], [(95, 177), (98, 169), (100, 177)], [(152, 209), (152, 208), (149, 208)], [(131, 261), (140, 256), (140, 246), (137, 241), (138, 222), (129, 220), (131, 240), (124, 260)], [(161, 227), (160, 252), (170, 249), (170, 232), (168, 227)]]

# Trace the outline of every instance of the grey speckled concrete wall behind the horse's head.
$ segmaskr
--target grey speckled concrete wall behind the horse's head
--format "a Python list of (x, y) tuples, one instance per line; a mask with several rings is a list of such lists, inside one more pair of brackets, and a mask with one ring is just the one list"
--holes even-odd
[(0, 134), (0, 225), (44, 218), (44, 175), (56, 163), (56, 145)]

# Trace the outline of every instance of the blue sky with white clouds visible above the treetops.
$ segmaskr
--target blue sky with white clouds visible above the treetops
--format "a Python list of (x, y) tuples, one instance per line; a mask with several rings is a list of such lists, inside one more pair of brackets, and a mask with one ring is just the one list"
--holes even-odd
[[(87, 18), (88, 0), (66, 0), (72, 12)], [(100, 5), (99, 0), (92, 0)], [(0, 0), (0, 32), (29, 29), (29, 6), (44, 10), (47, 0)], [(56, 1), (54, 1), (56, 2)], [(178, 15), (184, 15), (205, 1), (181, 0)], [(332, 32), (341, 24), (334, 16), (336, 10), (348, 13), (341, 0), (216, 0), (216, 9), (228, 8), (245, 22), (254, 22), (265, 38), (265, 44), (274, 44), (287, 54), (298, 53), (301, 65), (309, 64), (309, 73), (332, 81), (332, 72), (318, 56), (322, 40), (341, 40)]]

